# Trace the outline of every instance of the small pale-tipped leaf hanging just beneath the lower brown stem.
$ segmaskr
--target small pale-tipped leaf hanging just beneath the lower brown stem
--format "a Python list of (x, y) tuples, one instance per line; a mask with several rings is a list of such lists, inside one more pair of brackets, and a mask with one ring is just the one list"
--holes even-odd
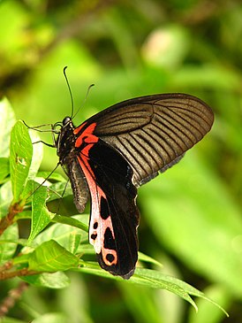
[(70, 284), (70, 279), (62, 272), (40, 273), (21, 277), (31, 285), (45, 288), (65, 288)]

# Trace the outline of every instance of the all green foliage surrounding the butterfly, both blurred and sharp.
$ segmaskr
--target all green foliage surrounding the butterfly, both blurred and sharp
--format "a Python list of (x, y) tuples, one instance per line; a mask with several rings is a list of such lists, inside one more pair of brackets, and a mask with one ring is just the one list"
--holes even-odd
[[(96, 109), (162, 92), (199, 96), (216, 113), (211, 133), (196, 148), (140, 188), (140, 250), (161, 261), (163, 269), (141, 254), (140, 265), (151, 270), (139, 268), (127, 282), (100, 278), (108, 273), (95, 264), (88, 246), (87, 214), (74, 215), (70, 188), (61, 205), (54, 193), (63, 192), (61, 174), (54, 173), (29, 197), (36, 181), (57, 165), (56, 152), (44, 147), (42, 161), (42, 145), (31, 144), (24, 124), (15, 124), (2, 101), (0, 217), (12, 217), (1, 235), (1, 270), (14, 277), (27, 274), (1, 282), (0, 304), (7, 290), (22, 288), (21, 301), (16, 298), (4, 322), (241, 320), (241, 14), (236, 0), (0, 3), (1, 95), (27, 124), (55, 123), (70, 114), (64, 65), (75, 102), (83, 102), (95, 83), (75, 117), (77, 125)], [(51, 142), (48, 134), (41, 139)], [(36, 269), (43, 273), (29, 275)], [(202, 288), (231, 318), (203, 298), (196, 302), (198, 314), (185, 311), (185, 302), (160, 288), (190, 302), (189, 295), (201, 294), (170, 275)], [(24, 289), (19, 281), (30, 285)], [(159, 288), (141, 286), (147, 281)], [(41, 286), (52, 288), (51, 294)]]

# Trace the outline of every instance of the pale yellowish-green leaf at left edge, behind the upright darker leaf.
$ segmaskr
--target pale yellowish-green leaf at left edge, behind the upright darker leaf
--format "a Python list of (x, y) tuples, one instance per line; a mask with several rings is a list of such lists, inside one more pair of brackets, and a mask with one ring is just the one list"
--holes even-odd
[(13, 127), (16, 120), (11, 105), (6, 98), (0, 101), (0, 120), (0, 156), (8, 157), (11, 127)]

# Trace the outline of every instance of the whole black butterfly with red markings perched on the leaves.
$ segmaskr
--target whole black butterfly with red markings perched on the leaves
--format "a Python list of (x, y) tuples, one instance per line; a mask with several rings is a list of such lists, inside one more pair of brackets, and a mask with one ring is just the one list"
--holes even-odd
[(185, 94), (140, 96), (74, 127), (64, 118), (55, 141), (59, 163), (83, 212), (91, 198), (89, 242), (99, 265), (129, 279), (138, 260), (137, 188), (178, 163), (208, 133), (214, 114)]

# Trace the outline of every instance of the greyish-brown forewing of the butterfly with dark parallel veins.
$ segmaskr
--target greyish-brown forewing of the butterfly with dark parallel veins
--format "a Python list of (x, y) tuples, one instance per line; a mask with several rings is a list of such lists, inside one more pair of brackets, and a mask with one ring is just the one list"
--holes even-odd
[(133, 170), (136, 187), (183, 157), (212, 127), (208, 104), (195, 96), (141, 96), (110, 106), (87, 120), (94, 135), (117, 149)]

